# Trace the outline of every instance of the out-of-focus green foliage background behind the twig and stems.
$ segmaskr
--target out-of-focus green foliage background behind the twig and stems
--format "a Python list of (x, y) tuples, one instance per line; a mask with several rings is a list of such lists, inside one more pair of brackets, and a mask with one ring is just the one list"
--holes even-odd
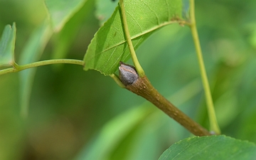
[[(102, 17), (95, 13), (100, 7), (88, 0), (78, 11), (86, 15), (70, 31), (66, 58), (82, 60), (100, 27), (97, 18)], [(250, 142), (256, 142), (255, 7), (253, 0), (196, 1), (198, 33), (221, 130)], [(46, 16), (43, 0), (0, 1), (0, 31), (16, 22), (16, 60)], [(54, 57), (59, 38), (60, 33), (50, 38), (41, 60)], [(208, 128), (189, 28), (161, 28), (137, 54), (154, 87)], [(191, 136), (142, 97), (78, 65), (37, 69), (27, 119), (20, 115), (19, 91), (18, 73), (1, 75), (0, 159), (158, 159), (171, 144)]]

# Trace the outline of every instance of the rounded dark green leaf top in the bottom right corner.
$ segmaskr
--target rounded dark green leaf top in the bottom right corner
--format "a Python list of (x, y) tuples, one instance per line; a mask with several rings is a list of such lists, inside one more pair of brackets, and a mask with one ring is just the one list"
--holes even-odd
[(231, 137), (210, 136), (183, 139), (169, 147), (159, 160), (166, 159), (255, 159), (256, 144)]

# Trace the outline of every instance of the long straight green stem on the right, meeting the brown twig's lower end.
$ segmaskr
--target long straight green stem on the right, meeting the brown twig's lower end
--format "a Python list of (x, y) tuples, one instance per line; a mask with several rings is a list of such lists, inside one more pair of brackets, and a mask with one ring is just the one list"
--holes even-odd
[(215, 110), (213, 106), (213, 99), (210, 93), (210, 86), (208, 82), (208, 78), (206, 75), (206, 68), (203, 63), (203, 55), (201, 50), (201, 45), (198, 38), (198, 31), (196, 28), (196, 18), (195, 18), (195, 3), (194, 0), (190, 0), (190, 17), (191, 17), (191, 24), (189, 25), (191, 28), (191, 33), (193, 36), (193, 41), (195, 43), (196, 47), (196, 55), (198, 57), (198, 63), (200, 67), (201, 72), (201, 78), (203, 81), (203, 89), (205, 90), (206, 95), (206, 103), (207, 103), (207, 109), (208, 109), (208, 117), (210, 122), (210, 131), (215, 132), (215, 134), (220, 134), (220, 128), (218, 126), (218, 122), (215, 116)]

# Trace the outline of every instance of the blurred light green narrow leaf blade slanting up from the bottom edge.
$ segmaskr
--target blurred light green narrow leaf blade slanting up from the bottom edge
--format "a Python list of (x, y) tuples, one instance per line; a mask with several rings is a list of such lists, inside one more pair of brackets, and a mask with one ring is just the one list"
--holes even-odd
[[(136, 126), (151, 114), (148, 107), (135, 107), (107, 122), (97, 138), (82, 149), (78, 160), (110, 159), (112, 151)], [(132, 118), (130, 118), (132, 117)]]

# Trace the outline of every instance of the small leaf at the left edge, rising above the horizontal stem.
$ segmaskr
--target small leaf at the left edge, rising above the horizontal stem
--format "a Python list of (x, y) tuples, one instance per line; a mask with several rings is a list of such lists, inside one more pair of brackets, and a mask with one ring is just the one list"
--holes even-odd
[(0, 41), (0, 65), (14, 64), (16, 24), (6, 25)]

